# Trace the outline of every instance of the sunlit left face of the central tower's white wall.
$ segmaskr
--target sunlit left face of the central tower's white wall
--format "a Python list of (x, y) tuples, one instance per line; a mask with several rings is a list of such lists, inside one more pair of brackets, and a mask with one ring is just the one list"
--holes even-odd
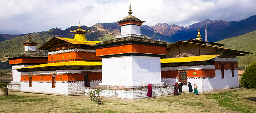
[(102, 58), (100, 85), (132, 86), (132, 57)]

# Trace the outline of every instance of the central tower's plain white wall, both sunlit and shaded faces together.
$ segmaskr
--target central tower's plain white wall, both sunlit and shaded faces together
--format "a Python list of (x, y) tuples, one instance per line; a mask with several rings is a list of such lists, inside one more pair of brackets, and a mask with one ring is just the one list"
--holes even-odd
[(100, 85), (138, 86), (148, 83), (162, 84), (160, 69), (160, 57), (125, 56), (103, 58), (102, 83)]

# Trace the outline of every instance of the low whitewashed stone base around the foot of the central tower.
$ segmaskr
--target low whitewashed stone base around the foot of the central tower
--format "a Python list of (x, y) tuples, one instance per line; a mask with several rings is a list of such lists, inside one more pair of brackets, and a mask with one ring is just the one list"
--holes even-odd
[[(173, 94), (174, 86), (173, 85), (152, 85), (152, 96), (161, 96)], [(131, 86), (135, 88), (126, 88), (129, 86), (97, 86), (97, 87), (86, 87), (86, 92), (90, 92), (95, 89), (101, 89), (100, 96), (102, 97), (111, 97), (111, 98), (121, 98), (121, 99), (141, 99), (146, 98), (148, 92), (147, 86)]]

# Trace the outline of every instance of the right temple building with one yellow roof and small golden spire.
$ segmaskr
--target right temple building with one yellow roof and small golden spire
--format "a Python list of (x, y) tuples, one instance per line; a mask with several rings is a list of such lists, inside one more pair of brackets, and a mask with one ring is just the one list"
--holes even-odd
[[(169, 44), (166, 58), (161, 59), (162, 81), (197, 84), (198, 92), (239, 87), (236, 56), (252, 53), (224, 48), (224, 45), (202, 41), (199, 29), (196, 39)], [(184, 85), (183, 90), (188, 91)]]

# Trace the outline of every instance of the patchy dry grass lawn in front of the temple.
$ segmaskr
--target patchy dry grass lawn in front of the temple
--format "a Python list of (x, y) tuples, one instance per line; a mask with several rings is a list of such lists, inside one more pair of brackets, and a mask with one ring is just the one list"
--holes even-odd
[(9, 91), (0, 97), (0, 112), (70, 113), (166, 113), (166, 112), (256, 112), (256, 92), (238, 88), (214, 94), (169, 95), (152, 99), (126, 100), (104, 98), (103, 105), (88, 96), (58, 96)]

